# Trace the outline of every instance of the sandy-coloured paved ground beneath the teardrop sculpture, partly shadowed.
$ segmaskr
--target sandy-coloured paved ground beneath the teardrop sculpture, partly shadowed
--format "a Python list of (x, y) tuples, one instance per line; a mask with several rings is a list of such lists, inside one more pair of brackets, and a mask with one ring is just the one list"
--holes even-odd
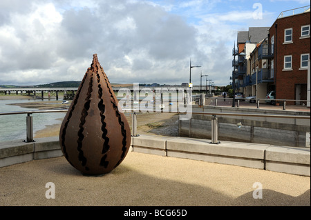
[(310, 177), (138, 152), (88, 177), (57, 157), (0, 168), (0, 206), (310, 206)]

